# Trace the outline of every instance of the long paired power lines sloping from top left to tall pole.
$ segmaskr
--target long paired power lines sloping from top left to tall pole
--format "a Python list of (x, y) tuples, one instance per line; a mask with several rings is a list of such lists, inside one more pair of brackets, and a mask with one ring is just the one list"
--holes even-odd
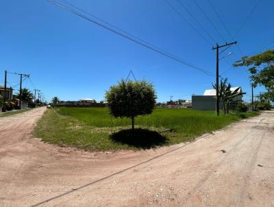
[(128, 40), (131, 40), (132, 42), (136, 42), (138, 45), (142, 45), (143, 47), (146, 47), (147, 49), (151, 49), (152, 51), (155, 51), (157, 53), (162, 54), (163, 56), (166, 56), (166, 57), (171, 58), (171, 59), (173, 59), (177, 62), (180, 62), (182, 64), (190, 66), (193, 69), (197, 69), (198, 71), (201, 71), (201, 72), (203, 72), (207, 75), (214, 76), (213, 73), (211, 73), (210, 71), (207, 71), (206, 69), (202, 69), (201, 67), (194, 66), (194, 65), (192, 65), (192, 64), (190, 64), (190, 63), (188, 63), (184, 60), (181, 60), (181, 59), (177, 58), (176, 56), (170, 55), (169, 53), (167, 53), (163, 50), (157, 49), (157, 47), (154, 47), (151, 44), (148, 45), (144, 41), (140, 41), (140, 39), (133, 38), (133, 36), (129, 36), (128, 34), (123, 34), (122, 32), (117, 31), (117, 29), (115, 30), (111, 27), (108, 27), (107, 25), (104, 25), (103, 23), (100, 23), (99, 21), (95, 21), (94, 19), (90, 19), (88, 16), (85, 16), (84, 14), (80, 14), (79, 12), (77, 12), (77, 11), (71, 9), (71, 8), (68, 8), (65, 5), (62, 5), (62, 4), (60, 4), (56, 1), (53, 1), (53, 0), (47, 0), (47, 1), (49, 1), (50, 3), (53, 3), (54, 5), (59, 6), (60, 8), (63, 8), (64, 10), (67, 10), (67, 11), (69, 11), (69, 12), (71, 12), (71, 13), (77, 15), (77, 16), (80, 16), (83, 19), (86, 19), (87, 21), (95, 23), (96, 25), (99, 25), (100, 27), (108, 29), (110, 32), (114, 32), (115, 34), (118, 34), (119, 36), (122, 36), (123, 38), (127, 38)]

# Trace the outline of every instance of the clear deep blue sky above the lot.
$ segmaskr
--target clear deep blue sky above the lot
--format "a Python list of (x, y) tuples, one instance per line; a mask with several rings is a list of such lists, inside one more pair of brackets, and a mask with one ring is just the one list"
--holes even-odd
[[(206, 36), (210, 44), (164, 0), (67, 1), (186, 62), (215, 73), (216, 51), (212, 51), (212, 46), (216, 42), (223, 45), (225, 41), (192, 0), (179, 1), (216, 42), (175, 0), (166, 1)], [(196, 1), (223, 38), (227, 42), (232, 40), (208, 0)], [(210, 2), (234, 36), (258, 0)], [(266, 48), (273, 48), (273, 8), (274, 1), (260, 1), (234, 38), (244, 55), (260, 51), (271, 40)], [(214, 77), (108, 32), (45, 0), (1, 1), (0, 25), (0, 84), (3, 85), (5, 69), (29, 73), (34, 86), (41, 89), (48, 100), (58, 96), (62, 100), (93, 98), (100, 101), (105, 90), (126, 78), (130, 70), (138, 80), (145, 78), (153, 83), (158, 101), (167, 101), (171, 95), (173, 99), (202, 95), (215, 81)], [(238, 48), (232, 46), (224, 52), (233, 54), (220, 60), (220, 73), (228, 77), (233, 86), (242, 86), (247, 92), (245, 99), (250, 100), (249, 73), (231, 66), (241, 57)], [(8, 86), (16, 85), (18, 75), (8, 74), (8, 82)], [(34, 86), (29, 80), (23, 83), (23, 87), (30, 89)], [(262, 90), (256, 88), (255, 93)]]

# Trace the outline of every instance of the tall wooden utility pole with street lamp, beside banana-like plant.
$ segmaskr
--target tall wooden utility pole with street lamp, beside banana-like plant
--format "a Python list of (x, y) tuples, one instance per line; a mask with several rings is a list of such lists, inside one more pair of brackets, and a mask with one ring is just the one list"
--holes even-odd
[[(219, 116), (220, 114), (220, 98), (219, 98), (219, 54), (221, 54), (223, 51), (225, 51), (229, 45), (237, 44), (237, 42), (225, 42), (225, 45), (219, 46), (216, 44), (216, 47), (212, 47), (212, 49), (216, 49), (216, 116)], [(226, 47), (219, 53), (219, 48)]]

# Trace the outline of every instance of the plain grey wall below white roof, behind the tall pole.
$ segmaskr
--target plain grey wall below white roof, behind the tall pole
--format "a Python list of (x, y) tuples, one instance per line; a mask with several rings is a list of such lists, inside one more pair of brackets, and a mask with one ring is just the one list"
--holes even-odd
[[(216, 97), (214, 95), (192, 95), (192, 109), (215, 110)], [(223, 103), (221, 101), (220, 101), (220, 109), (223, 109)]]

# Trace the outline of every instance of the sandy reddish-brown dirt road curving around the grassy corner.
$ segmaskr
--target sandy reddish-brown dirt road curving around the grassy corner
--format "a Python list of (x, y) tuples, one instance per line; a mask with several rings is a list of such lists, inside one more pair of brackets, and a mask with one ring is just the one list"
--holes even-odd
[(103, 153), (32, 138), (44, 111), (0, 118), (0, 206), (274, 206), (273, 111), (194, 143)]

